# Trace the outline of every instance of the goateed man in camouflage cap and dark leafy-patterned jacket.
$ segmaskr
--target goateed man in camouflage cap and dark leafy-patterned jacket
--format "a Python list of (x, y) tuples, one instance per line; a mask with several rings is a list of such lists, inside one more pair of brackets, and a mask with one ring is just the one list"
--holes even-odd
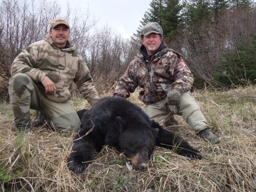
[(140, 54), (120, 78), (113, 96), (130, 97), (140, 86), (143, 90), (139, 99), (146, 103), (143, 110), (150, 119), (165, 123), (173, 115), (181, 115), (201, 138), (219, 142), (189, 92), (193, 75), (182, 55), (167, 48), (161, 26), (156, 22), (146, 24), (141, 31), (141, 41)]

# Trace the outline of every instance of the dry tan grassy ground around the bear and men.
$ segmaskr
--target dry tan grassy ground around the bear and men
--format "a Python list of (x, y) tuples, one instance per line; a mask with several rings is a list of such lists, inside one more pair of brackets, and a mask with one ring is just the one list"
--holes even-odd
[[(143, 107), (137, 96), (130, 101)], [(256, 87), (205, 89), (193, 96), (221, 143), (204, 142), (179, 116), (179, 125), (168, 129), (198, 148), (202, 160), (190, 161), (156, 147), (148, 169), (129, 171), (129, 160), (104, 146), (83, 174), (73, 174), (66, 166), (73, 134), (52, 132), (46, 126), (18, 133), (10, 106), (2, 103), (0, 191), (256, 191)], [(88, 107), (81, 98), (73, 104), (76, 109)]]

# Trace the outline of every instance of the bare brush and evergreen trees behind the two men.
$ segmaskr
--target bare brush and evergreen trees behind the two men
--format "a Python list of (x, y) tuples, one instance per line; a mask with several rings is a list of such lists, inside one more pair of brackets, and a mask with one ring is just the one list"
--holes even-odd
[(141, 25), (130, 38), (122, 37), (108, 24), (97, 27), (89, 6), (72, 9), (67, 3), (62, 10), (61, 4), (0, 0), (0, 99), (8, 101), (13, 60), (31, 43), (44, 39), (56, 18), (68, 20), (70, 39), (95, 84), (102, 86), (97, 89), (99, 93), (124, 74), (139, 52), (140, 32), (148, 22), (158, 22), (167, 46), (183, 54), (197, 88), (204, 83), (216, 88), (256, 84), (255, 1), (151, 0)]

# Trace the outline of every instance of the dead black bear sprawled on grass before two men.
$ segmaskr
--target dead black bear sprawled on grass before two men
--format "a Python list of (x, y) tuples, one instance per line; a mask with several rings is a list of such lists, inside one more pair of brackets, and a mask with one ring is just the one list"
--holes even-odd
[(124, 98), (105, 97), (82, 117), (82, 127), (73, 139), (73, 152), (67, 165), (83, 172), (93, 161), (94, 152), (104, 144), (119, 147), (136, 169), (147, 167), (155, 145), (173, 149), (177, 154), (201, 159), (199, 151), (174, 132), (163, 129), (135, 104)]

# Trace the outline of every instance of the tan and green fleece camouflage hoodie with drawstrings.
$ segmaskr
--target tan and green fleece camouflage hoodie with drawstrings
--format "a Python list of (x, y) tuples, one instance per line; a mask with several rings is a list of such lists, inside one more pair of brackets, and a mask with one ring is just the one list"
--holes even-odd
[(13, 61), (11, 75), (24, 73), (37, 84), (45, 95), (42, 80), (47, 75), (56, 85), (56, 95), (45, 95), (51, 101), (63, 103), (71, 98), (72, 83), (92, 105), (99, 99), (90, 71), (75, 44), (68, 40), (69, 48), (59, 49), (50, 35), (25, 48)]

